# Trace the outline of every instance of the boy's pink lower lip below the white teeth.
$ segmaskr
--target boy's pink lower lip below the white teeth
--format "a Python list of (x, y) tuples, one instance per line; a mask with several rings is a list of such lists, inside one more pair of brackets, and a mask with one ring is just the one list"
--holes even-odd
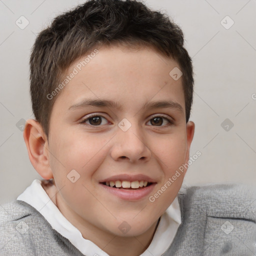
[(104, 189), (106, 189), (108, 192), (118, 196), (119, 198), (123, 200), (128, 201), (137, 201), (148, 195), (150, 192), (152, 192), (154, 186), (156, 183), (152, 183), (149, 186), (145, 186), (140, 189), (121, 189), (121, 188), (114, 188), (111, 186), (106, 186), (104, 184), (99, 183)]

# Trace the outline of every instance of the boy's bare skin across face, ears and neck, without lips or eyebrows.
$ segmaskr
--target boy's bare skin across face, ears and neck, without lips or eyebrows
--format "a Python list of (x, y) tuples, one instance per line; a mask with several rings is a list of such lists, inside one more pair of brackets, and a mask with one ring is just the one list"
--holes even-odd
[[(150, 244), (158, 218), (177, 195), (185, 171), (154, 202), (148, 197), (188, 161), (194, 123), (185, 122), (181, 78), (169, 75), (178, 67), (176, 61), (149, 47), (102, 46), (98, 50), (57, 95), (48, 139), (33, 119), (27, 120), (23, 136), (36, 171), (45, 179), (54, 178), (52, 186), (43, 186), (45, 191), (82, 236), (109, 255), (139, 255)], [(84, 57), (70, 65), (65, 75), (80, 60)], [(68, 110), (84, 98), (113, 100), (122, 108)], [(158, 100), (172, 100), (183, 110), (142, 108)], [(79, 123), (91, 113), (101, 116), (101, 122)], [(153, 117), (162, 115), (160, 122), (154, 121)], [(118, 126), (123, 118), (131, 124), (125, 132)], [(168, 125), (165, 118), (174, 124)], [(74, 183), (67, 178), (72, 169), (80, 175)], [(156, 184), (147, 196), (124, 200), (99, 185), (99, 180), (116, 174), (144, 174)], [(118, 228), (123, 221), (130, 226), (126, 233)]]

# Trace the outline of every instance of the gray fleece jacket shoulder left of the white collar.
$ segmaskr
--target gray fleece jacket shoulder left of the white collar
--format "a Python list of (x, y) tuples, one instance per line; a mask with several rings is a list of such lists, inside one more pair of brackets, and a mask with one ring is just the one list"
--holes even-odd
[[(33, 208), (21, 200), (0, 205), (0, 255), (81, 255)], [(5, 254), (4, 254), (5, 253)]]

